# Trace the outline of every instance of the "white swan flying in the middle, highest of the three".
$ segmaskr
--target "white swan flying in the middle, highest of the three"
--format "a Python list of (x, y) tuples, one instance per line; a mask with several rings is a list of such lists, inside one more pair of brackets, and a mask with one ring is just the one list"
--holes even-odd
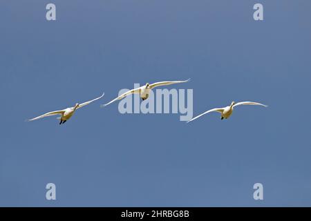
[(140, 94), (140, 97), (142, 98), (142, 100), (145, 100), (149, 97), (149, 93), (153, 88), (156, 88), (158, 86), (170, 85), (170, 84), (186, 83), (189, 80), (190, 80), (190, 78), (185, 80), (185, 81), (160, 81), (160, 82), (156, 82), (154, 84), (147, 83), (144, 86), (141, 86), (140, 88), (134, 88), (132, 90), (127, 91), (126, 93), (123, 93), (119, 97), (113, 99), (111, 102), (109, 102), (107, 104), (102, 104), (101, 107), (107, 106), (107, 105), (115, 102), (116, 100), (123, 99), (127, 95), (131, 95), (131, 94)]

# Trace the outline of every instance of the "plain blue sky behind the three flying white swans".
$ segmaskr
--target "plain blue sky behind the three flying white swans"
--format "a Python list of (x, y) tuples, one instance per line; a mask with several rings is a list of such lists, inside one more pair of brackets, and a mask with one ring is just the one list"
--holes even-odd
[[(46, 4), (57, 21), (46, 21)], [(263, 3), (264, 21), (254, 21)], [(311, 1), (1, 1), (0, 206), (311, 206)], [(121, 115), (187, 79), (194, 115)], [(169, 86), (169, 88), (173, 88)], [(66, 124), (24, 122), (106, 95)], [(57, 186), (57, 200), (45, 186)], [(253, 199), (253, 185), (264, 200)]]

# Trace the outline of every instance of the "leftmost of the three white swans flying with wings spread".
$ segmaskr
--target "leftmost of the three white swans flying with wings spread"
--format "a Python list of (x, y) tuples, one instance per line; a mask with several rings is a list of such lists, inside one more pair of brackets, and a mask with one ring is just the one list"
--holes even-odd
[(35, 117), (35, 118), (32, 118), (32, 119), (28, 119), (27, 121), (28, 122), (31, 122), (32, 120), (35, 120), (35, 119), (40, 119), (42, 117), (48, 117), (48, 116), (53, 116), (53, 115), (61, 115), (61, 117), (57, 117), (57, 119), (60, 119), (60, 122), (59, 124), (64, 124), (68, 119), (70, 119), (70, 117), (73, 116), (73, 114), (75, 113), (75, 111), (79, 108), (82, 108), (82, 106), (86, 106), (88, 104), (91, 104), (92, 102), (95, 102), (95, 100), (97, 99), (100, 99), (104, 96), (104, 93), (102, 94), (102, 96), (100, 97), (97, 97), (95, 99), (92, 99), (91, 101), (88, 101), (88, 102), (84, 102), (82, 104), (75, 104), (75, 106), (71, 107), (71, 108), (66, 108), (64, 110), (61, 110), (61, 111), (52, 111), (52, 112), (48, 112), (48, 113), (45, 113), (44, 115), (40, 115), (39, 117)]

